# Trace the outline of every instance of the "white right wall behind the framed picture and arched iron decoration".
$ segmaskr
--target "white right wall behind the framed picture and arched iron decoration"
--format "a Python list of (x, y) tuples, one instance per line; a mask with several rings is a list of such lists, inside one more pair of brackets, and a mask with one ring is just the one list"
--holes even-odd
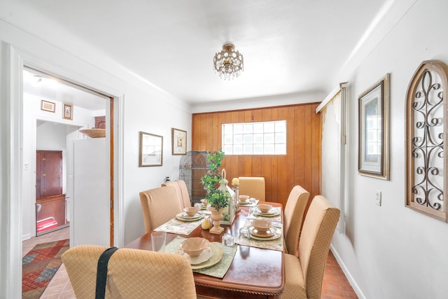
[[(447, 298), (448, 224), (405, 207), (407, 86), (423, 60), (448, 64), (447, 13), (448, 1), (416, 1), (347, 80), (346, 233), (336, 232), (332, 248), (361, 298)], [(357, 170), (358, 95), (386, 73), (391, 73), (390, 181)], [(375, 190), (382, 192), (381, 207)]]

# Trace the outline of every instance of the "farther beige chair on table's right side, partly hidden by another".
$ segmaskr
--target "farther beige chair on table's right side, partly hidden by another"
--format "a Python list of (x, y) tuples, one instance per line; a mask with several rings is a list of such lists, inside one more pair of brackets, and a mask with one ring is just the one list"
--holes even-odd
[(286, 253), (295, 254), (302, 227), (305, 207), (307, 207), (309, 192), (301, 186), (294, 186), (288, 196), (283, 212), (283, 235), (286, 242)]

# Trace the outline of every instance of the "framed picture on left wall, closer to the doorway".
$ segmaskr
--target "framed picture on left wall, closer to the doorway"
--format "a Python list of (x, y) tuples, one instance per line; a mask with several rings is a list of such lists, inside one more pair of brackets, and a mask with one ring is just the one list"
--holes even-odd
[(139, 167), (162, 166), (163, 137), (140, 132)]

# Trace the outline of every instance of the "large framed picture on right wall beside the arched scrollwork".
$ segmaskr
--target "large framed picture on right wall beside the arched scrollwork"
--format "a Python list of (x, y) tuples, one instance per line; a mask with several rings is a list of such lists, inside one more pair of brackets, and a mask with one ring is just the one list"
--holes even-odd
[(390, 74), (358, 97), (358, 172), (363, 176), (389, 179)]

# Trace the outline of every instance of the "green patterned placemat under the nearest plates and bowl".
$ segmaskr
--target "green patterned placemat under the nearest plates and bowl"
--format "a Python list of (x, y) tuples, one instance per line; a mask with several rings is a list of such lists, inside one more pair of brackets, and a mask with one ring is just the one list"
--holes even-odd
[[(185, 240), (184, 237), (176, 237), (172, 242), (169, 242), (165, 246), (165, 252), (167, 253), (179, 253), (179, 246)], [(234, 246), (223, 246), (221, 243), (216, 242), (218, 246), (221, 246), (223, 248), (223, 258), (215, 265), (212, 265), (210, 267), (202, 268), (202, 269), (195, 269), (193, 272), (206, 274), (212, 277), (218, 277), (223, 278), (225, 273), (230, 268), (230, 265), (232, 264), (233, 258), (235, 258), (235, 253), (237, 253), (237, 245)]]

